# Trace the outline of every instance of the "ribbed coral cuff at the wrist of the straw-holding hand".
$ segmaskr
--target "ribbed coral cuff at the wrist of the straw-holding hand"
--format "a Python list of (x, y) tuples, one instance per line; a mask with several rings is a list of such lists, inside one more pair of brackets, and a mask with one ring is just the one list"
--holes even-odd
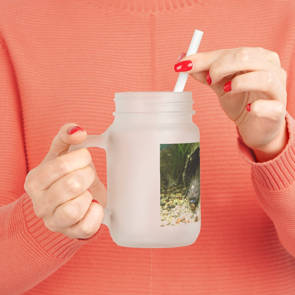
[(253, 150), (245, 145), (240, 134), (238, 136), (240, 154), (252, 166), (252, 180), (269, 190), (284, 189), (295, 179), (295, 121), (288, 113), (286, 122), (289, 141), (276, 158), (267, 162), (256, 163)]

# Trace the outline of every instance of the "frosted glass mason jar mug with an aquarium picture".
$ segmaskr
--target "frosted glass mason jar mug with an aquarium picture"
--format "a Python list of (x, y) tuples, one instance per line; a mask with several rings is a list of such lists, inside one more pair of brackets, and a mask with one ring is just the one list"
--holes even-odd
[(103, 223), (112, 239), (140, 248), (194, 243), (201, 228), (200, 135), (191, 92), (121, 92), (114, 101), (106, 132), (69, 149), (106, 150)]

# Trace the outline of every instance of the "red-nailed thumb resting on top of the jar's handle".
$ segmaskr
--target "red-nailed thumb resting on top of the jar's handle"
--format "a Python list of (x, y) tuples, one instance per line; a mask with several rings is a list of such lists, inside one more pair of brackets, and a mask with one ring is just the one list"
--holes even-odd
[(54, 137), (49, 152), (42, 161), (46, 163), (68, 152), (70, 145), (83, 142), (87, 137), (86, 131), (74, 123), (63, 125)]

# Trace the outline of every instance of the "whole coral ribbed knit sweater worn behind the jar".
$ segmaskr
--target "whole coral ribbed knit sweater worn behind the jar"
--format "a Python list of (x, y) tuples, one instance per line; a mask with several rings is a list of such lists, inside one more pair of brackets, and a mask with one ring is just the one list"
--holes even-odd
[[(0, 0), (0, 294), (294, 295), (294, 9), (293, 0)], [(117, 246), (104, 225), (87, 240), (49, 231), (24, 191), (27, 172), (63, 124), (103, 133), (115, 92), (172, 91), (195, 29), (199, 52), (279, 54), (285, 150), (255, 163), (214, 92), (189, 77), (201, 132), (196, 242), (137, 249)], [(106, 185), (104, 150), (91, 153)]]

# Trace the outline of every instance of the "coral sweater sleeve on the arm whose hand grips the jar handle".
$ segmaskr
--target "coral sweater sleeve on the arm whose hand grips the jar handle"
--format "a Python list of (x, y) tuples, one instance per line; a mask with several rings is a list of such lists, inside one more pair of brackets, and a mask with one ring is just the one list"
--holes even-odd
[(48, 230), (24, 191), (22, 109), (9, 51), (0, 38), (0, 293), (22, 294), (60, 268), (83, 244)]

